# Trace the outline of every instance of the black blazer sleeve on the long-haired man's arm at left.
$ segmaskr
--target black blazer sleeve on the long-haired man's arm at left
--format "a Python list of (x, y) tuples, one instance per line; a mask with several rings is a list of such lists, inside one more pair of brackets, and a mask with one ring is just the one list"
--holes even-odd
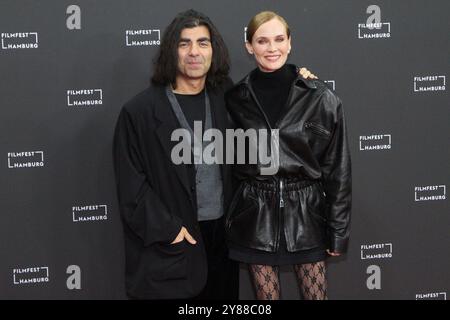
[(171, 214), (152, 189), (151, 172), (144, 172), (132, 117), (122, 109), (113, 142), (114, 171), (122, 221), (144, 246), (157, 242), (171, 243), (178, 235), (182, 221)]

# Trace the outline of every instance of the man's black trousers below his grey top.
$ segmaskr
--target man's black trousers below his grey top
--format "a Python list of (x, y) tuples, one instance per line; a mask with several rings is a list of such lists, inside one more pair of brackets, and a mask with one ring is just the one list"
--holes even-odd
[(228, 258), (225, 241), (225, 218), (200, 221), (200, 230), (208, 259), (208, 278), (195, 299), (238, 300), (239, 263)]

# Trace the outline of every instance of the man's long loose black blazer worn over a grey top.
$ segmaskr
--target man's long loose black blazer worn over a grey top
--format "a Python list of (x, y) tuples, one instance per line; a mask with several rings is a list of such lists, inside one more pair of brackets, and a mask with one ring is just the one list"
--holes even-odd
[[(228, 127), (225, 86), (208, 90), (213, 125)], [(181, 126), (162, 86), (151, 86), (122, 108), (114, 134), (114, 168), (125, 235), (126, 288), (130, 297), (194, 297), (207, 276), (197, 222), (193, 165), (175, 165), (172, 132)], [(224, 203), (230, 203), (231, 171), (221, 166)], [(227, 210), (225, 207), (224, 210)], [(197, 240), (171, 245), (182, 226)]]

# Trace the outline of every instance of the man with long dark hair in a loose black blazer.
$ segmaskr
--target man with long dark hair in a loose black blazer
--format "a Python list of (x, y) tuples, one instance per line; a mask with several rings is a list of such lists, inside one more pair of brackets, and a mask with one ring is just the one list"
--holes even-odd
[(238, 265), (224, 236), (230, 168), (176, 165), (171, 139), (176, 129), (192, 132), (194, 121), (225, 133), (228, 72), (227, 48), (210, 19), (180, 13), (164, 32), (152, 85), (119, 115), (114, 166), (130, 298), (238, 299)]

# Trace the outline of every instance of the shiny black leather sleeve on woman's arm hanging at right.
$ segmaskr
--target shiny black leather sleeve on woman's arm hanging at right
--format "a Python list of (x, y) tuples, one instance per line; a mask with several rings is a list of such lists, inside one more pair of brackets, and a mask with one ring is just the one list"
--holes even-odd
[(327, 197), (330, 251), (347, 251), (350, 233), (352, 181), (350, 150), (342, 102), (338, 99), (336, 123), (321, 163)]

